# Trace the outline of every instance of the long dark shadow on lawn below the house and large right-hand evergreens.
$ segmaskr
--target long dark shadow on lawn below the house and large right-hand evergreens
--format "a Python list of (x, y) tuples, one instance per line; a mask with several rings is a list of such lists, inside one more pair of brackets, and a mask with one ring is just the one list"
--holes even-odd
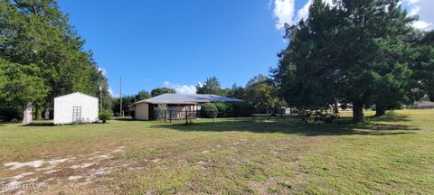
[[(280, 133), (294, 135), (406, 135), (419, 130), (410, 125), (386, 125), (378, 123), (351, 124), (307, 124), (297, 119), (282, 120), (243, 120), (237, 122), (198, 122), (184, 124), (158, 124), (155, 127), (165, 127), (185, 132), (252, 132), (252, 133)], [(348, 120), (351, 121), (351, 120)]]

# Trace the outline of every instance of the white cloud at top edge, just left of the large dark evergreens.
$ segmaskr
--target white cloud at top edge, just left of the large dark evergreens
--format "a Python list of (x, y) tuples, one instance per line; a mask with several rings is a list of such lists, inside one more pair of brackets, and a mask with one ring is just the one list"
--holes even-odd
[(276, 28), (283, 29), (285, 23), (293, 24), (295, 12), (294, 0), (276, 0), (274, 2), (274, 17), (277, 18)]

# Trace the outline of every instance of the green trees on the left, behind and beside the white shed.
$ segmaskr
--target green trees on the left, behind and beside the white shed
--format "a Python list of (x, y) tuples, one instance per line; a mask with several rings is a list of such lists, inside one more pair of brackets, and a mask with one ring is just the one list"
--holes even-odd
[[(55, 0), (0, 0), (0, 118), (48, 118), (53, 98), (80, 91), (110, 99), (107, 79)], [(104, 108), (111, 101), (103, 102)], [(32, 110), (35, 109), (35, 112)]]

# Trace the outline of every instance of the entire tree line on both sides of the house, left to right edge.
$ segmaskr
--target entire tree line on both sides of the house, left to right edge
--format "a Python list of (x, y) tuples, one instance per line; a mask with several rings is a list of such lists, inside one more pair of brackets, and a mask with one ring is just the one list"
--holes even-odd
[[(382, 116), (420, 98), (433, 101), (434, 32), (414, 29), (417, 20), (399, 0), (335, 0), (333, 5), (314, 0), (306, 19), (285, 25), (288, 47), (278, 52), (269, 77), (258, 75), (245, 87), (232, 88), (211, 77), (196, 86), (197, 93), (244, 99), (257, 113), (351, 104), (355, 123), (363, 122), (363, 107), (375, 105)], [(119, 112), (120, 99), (110, 97), (107, 79), (84, 42), (55, 0), (0, 0), (0, 117), (11, 119), (19, 110), (30, 123), (35, 109), (36, 117), (43, 110), (48, 118), (53, 98), (75, 91), (99, 97), (101, 90), (103, 109)], [(164, 93), (175, 90), (123, 97), (124, 112), (136, 101)]]

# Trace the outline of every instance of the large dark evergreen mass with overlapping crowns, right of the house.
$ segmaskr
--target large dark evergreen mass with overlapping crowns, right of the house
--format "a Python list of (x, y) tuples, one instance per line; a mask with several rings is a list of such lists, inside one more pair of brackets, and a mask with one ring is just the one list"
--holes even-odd
[(411, 74), (403, 56), (414, 19), (399, 0), (336, 0), (332, 7), (315, 0), (306, 22), (287, 26), (290, 43), (272, 71), (282, 95), (297, 107), (351, 102), (354, 123), (363, 122), (367, 104), (384, 110), (403, 101)]

